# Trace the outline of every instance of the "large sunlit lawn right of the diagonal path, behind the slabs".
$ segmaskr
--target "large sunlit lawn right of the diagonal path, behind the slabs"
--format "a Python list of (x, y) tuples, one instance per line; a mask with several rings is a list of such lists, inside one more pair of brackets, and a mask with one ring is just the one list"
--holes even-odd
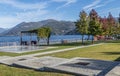
[(120, 43), (105, 43), (102, 45), (80, 48), (77, 50), (48, 55), (62, 58), (86, 57), (101, 60), (117, 61), (120, 60)]

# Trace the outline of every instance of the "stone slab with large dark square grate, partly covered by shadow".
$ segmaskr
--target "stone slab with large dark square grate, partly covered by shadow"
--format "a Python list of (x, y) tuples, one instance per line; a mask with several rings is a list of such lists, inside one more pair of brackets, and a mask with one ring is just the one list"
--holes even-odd
[(74, 58), (70, 61), (56, 65), (48, 66), (48, 70), (51, 71), (61, 71), (66, 73), (71, 73), (74, 75), (98, 75), (101, 71), (108, 68), (110, 65), (113, 65), (115, 62), (112, 61), (103, 61), (87, 58)]

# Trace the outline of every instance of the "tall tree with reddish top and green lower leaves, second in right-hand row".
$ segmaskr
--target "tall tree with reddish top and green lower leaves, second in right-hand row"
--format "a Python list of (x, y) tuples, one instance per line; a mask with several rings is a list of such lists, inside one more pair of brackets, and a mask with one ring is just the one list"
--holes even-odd
[[(100, 23), (97, 12), (92, 9), (89, 14), (90, 22), (89, 22), (89, 33), (94, 37), (100, 35), (102, 33), (102, 25)], [(92, 43), (94, 40), (92, 39)]]

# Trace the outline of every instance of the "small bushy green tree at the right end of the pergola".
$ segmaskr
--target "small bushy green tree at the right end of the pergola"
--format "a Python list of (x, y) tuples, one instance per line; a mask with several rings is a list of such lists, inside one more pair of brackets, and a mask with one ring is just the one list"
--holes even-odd
[(49, 27), (41, 27), (37, 29), (38, 38), (45, 38), (47, 40), (47, 45), (49, 45), (49, 39), (51, 36), (51, 29)]

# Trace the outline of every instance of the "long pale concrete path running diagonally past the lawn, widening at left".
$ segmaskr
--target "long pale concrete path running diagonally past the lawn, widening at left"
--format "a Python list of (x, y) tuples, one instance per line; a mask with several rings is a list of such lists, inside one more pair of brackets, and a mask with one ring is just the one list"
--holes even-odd
[(61, 50), (54, 50), (54, 51), (48, 51), (48, 52), (42, 52), (42, 53), (35, 53), (35, 54), (29, 54), (29, 55), (22, 55), (22, 56), (16, 56), (16, 57), (7, 57), (7, 58), (0, 58), (0, 63), (3, 64), (12, 64), (15, 61), (19, 61), (21, 59), (31, 59), (34, 58), (35, 56), (38, 55), (45, 55), (45, 54), (52, 54), (52, 53), (58, 53), (58, 52), (64, 52), (64, 51), (71, 51), (79, 48), (85, 48), (85, 47), (91, 47), (91, 46), (97, 46), (97, 45), (102, 45), (101, 44), (94, 44), (94, 45), (88, 45), (88, 46), (78, 46), (78, 47), (72, 47), (72, 48), (66, 48), (66, 49), (61, 49)]

